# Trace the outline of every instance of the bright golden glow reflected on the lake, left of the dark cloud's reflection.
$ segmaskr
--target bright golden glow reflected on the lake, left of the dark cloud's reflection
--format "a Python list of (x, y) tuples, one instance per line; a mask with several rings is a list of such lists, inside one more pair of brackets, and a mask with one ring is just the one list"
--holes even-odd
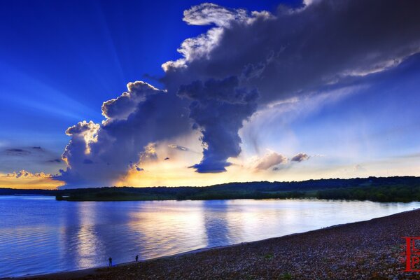
[[(140, 259), (195, 250), (206, 246), (202, 202), (141, 202), (130, 214), (130, 232), (139, 233)], [(186, 249), (188, 248), (188, 249)]]

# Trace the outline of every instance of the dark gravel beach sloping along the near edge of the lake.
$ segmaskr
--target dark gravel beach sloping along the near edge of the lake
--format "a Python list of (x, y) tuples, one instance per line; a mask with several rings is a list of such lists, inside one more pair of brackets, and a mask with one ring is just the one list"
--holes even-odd
[(404, 272), (420, 210), (111, 268), (34, 279), (420, 279)]

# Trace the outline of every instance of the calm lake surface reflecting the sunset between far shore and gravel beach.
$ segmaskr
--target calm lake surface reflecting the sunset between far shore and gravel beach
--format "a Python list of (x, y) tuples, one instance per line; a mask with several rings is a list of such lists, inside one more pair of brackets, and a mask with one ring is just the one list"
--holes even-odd
[(130, 262), (364, 221), (420, 202), (65, 202), (0, 196), (0, 278)]

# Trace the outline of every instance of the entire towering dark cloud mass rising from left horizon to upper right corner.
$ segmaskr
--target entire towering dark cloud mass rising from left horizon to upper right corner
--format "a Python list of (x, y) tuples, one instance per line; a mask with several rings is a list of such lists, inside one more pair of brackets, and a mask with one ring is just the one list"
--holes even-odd
[(241, 153), (238, 130), (255, 111), (348, 87), (419, 52), (419, 10), (419, 1), (398, 0), (311, 0), (272, 13), (193, 6), (183, 20), (210, 27), (181, 43), (179, 59), (162, 65), (165, 90), (129, 83), (120, 97), (104, 102), (102, 123), (69, 127), (62, 155), (68, 168), (56, 178), (68, 186), (109, 186), (133, 165), (141, 169), (149, 144), (190, 134), (191, 123), (203, 144), (193, 167), (224, 172), (228, 159)]

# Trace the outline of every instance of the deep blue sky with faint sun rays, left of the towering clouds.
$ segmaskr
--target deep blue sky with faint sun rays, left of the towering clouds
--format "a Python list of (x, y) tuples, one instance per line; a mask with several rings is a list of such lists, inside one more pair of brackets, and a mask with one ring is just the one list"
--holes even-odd
[[(201, 1), (3, 1), (0, 10), (0, 139), (62, 153), (67, 127), (100, 122), (105, 100), (130, 81), (160, 85), (161, 64), (179, 57), (183, 10)], [(249, 10), (277, 1), (216, 1)], [(286, 1), (299, 5), (299, 1)], [(155, 78), (152, 78), (155, 77)], [(25, 167), (29, 168), (29, 167)]]

